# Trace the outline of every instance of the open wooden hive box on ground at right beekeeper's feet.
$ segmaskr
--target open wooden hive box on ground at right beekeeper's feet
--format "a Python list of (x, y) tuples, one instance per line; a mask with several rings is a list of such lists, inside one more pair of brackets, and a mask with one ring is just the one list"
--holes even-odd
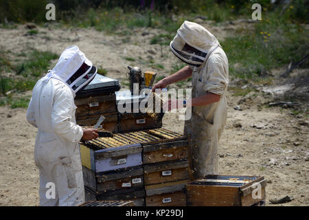
[(265, 186), (264, 177), (207, 175), (186, 185), (187, 205), (253, 206), (265, 199)]

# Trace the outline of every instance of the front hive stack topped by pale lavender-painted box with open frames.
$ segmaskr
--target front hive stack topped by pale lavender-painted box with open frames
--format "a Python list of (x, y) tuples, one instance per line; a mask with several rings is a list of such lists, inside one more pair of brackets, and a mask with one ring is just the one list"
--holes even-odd
[(144, 205), (141, 144), (129, 135), (80, 144), (87, 200), (133, 200)]

